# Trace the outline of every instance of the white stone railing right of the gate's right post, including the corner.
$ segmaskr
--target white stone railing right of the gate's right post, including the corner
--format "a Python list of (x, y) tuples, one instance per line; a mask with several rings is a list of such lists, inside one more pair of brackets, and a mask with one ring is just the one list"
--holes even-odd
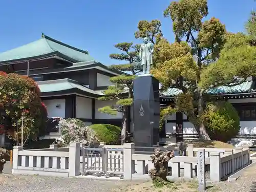
[[(197, 175), (198, 157), (194, 157), (194, 152), (198, 152), (200, 149), (202, 148), (192, 148), (193, 151), (190, 150), (189, 155), (193, 154), (193, 156), (176, 156), (170, 159), (168, 166), (172, 167), (172, 177), (181, 177), (182, 169), (185, 178), (195, 177)], [(250, 163), (248, 147), (203, 149), (205, 150), (205, 166), (209, 166), (211, 181), (225, 180)], [(136, 170), (138, 175), (144, 175), (147, 170), (154, 167), (150, 155), (133, 154), (132, 160), (137, 161), (137, 163), (132, 162), (131, 170)], [(135, 164), (137, 165), (136, 168), (134, 168)]]

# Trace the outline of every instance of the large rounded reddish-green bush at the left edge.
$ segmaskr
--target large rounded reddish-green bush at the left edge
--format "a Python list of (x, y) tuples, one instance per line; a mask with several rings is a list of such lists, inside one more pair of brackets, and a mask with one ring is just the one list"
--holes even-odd
[[(35, 81), (27, 76), (0, 73), (0, 108), (6, 113), (1, 122), (10, 138), (21, 138), (24, 117), (24, 139), (36, 139), (46, 130), (47, 109), (40, 99), (40, 90)], [(19, 129), (21, 130), (21, 129)], [(20, 141), (20, 140), (19, 140)]]

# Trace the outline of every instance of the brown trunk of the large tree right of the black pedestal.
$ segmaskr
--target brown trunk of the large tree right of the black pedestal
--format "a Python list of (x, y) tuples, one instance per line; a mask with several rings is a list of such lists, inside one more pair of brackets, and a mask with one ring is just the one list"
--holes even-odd
[[(203, 94), (201, 89), (198, 87), (198, 91), (199, 91), (199, 96), (198, 96), (198, 116), (199, 118), (201, 117), (201, 115), (203, 114)], [(200, 125), (199, 127), (197, 127), (197, 132), (199, 134), (199, 139), (200, 141), (204, 141), (204, 140), (211, 140), (208, 133), (206, 132), (205, 126), (204, 124), (200, 121)]]

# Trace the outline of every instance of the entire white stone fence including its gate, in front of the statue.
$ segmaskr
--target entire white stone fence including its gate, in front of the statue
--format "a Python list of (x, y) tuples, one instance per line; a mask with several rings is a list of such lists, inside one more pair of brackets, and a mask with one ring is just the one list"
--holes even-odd
[[(189, 145), (188, 155), (190, 156), (176, 156), (170, 159), (168, 166), (172, 167), (172, 176), (181, 177), (181, 170), (183, 170), (185, 178), (195, 177), (198, 157), (194, 157), (194, 153), (200, 149)], [(211, 181), (225, 180), (250, 163), (248, 147), (203, 149), (204, 166), (210, 170)], [(98, 153), (92, 153), (93, 151)], [(150, 156), (150, 154), (136, 154), (133, 143), (101, 144), (99, 148), (88, 148), (80, 143), (71, 143), (69, 147), (58, 148), (57, 145), (51, 145), (50, 148), (40, 150), (23, 150), (23, 147), (15, 146), (12, 173), (74, 177), (80, 175), (82, 163), (82, 174), (100, 173), (100, 176), (106, 177), (120, 175), (123, 179), (131, 180), (136, 172), (137, 176), (146, 176), (148, 170), (154, 168)]]

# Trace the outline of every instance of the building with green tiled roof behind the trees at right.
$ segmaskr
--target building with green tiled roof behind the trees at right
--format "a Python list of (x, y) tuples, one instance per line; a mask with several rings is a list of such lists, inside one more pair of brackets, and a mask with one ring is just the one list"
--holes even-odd
[[(161, 94), (162, 105), (174, 105), (174, 97), (182, 93), (178, 89), (168, 89)], [(220, 86), (211, 89), (207, 94), (214, 96), (220, 100), (229, 101), (237, 110), (240, 117), (240, 132), (232, 141), (236, 143), (241, 139), (255, 139), (256, 140), (256, 87), (253, 78), (247, 78), (245, 82), (233, 86)], [(165, 120), (165, 126), (162, 130), (161, 142), (173, 141), (174, 133), (179, 133), (181, 128), (182, 134), (177, 134), (178, 137), (185, 139), (198, 138), (197, 131), (194, 125), (188, 121), (185, 114), (176, 113), (169, 115)], [(165, 134), (165, 137), (164, 137)]]

